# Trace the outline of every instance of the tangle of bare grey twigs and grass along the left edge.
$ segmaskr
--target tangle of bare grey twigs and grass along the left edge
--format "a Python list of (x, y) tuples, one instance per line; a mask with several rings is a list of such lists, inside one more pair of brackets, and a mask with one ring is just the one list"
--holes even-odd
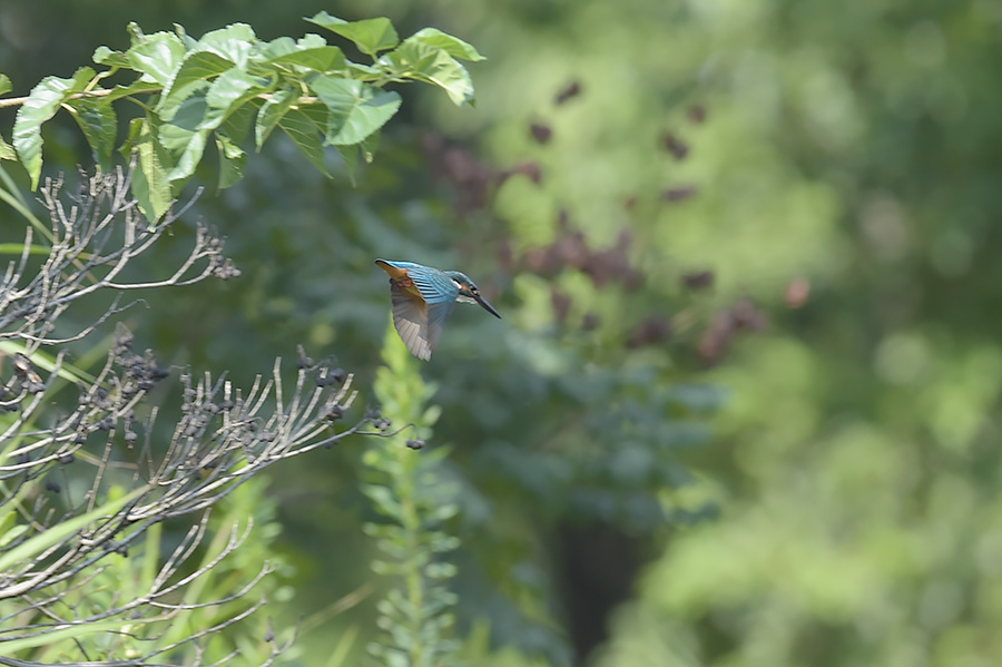
[[(171, 371), (149, 350), (135, 351), (132, 334), (119, 324), (96, 377), (80, 380), (87, 375), (67, 369), (59, 346), (105, 327), (137, 303), (122, 304), (124, 292), (238, 274), (222, 255), (222, 239), (199, 224), (191, 249), (168, 275), (127, 277), (131, 272), (126, 268), (194, 202), (151, 227), (129, 185), (130, 173), (121, 169), (84, 178), (72, 196), (62, 193), (62, 179), (47, 180), (41, 202), (49, 213), (51, 247), (43, 259), (33, 259), (37, 247), (29, 228), (20, 256), (0, 277), (0, 341), (19, 343), (23, 350), (9, 357), (0, 353), (0, 517), (16, 518), (14, 530), (0, 536), (7, 540), (0, 543), (0, 649), (4, 643), (106, 628), (115, 621), (117, 628), (101, 631), (117, 638), (112, 644), (129, 645), (121, 653), (126, 659), (94, 660), (87, 641), (73, 636), (62, 641), (79, 654), (75, 664), (150, 666), (169, 656), (207, 667), (208, 638), (266, 604), (263, 594), (257, 601), (249, 597), (273, 571), (263, 562), (217, 599), (187, 599), (186, 591), (223, 567), (253, 529), (249, 517), (240, 521), (243, 529), (233, 524), (225, 541), (214, 540), (218, 551), (203, 560), (202, 547), (213, 532), (210, 510), (278, 461), (355, 433), (384, 433), (365, 430), (372, 421), (367, 412), (353, 424), (337, 423), (357, 396), (354, 376), (331, 361), (315, 364), (302, 350), (293, 381), (276, 359), (268, 376), (257, 376), (248, 391), (234, 386), (225, 373), (195, 375), (187, 369), (168, 382)], [(106, 293), (114, 296), (90, 324), (69, 331), (59, 326), (75, 304)], [(48, 373), (37, 357), (42, 349), (55, 353)], [(55, 401), (60, 376), (77, 379), (72, 406)], [(150, 400), (150, 391), (165, 383), (181, 399), (169, 439), (163, 431), (166, 415)], [(71, 494), (70, 485), (78, 491)], [(109, 504), (116, 497), (122, 501)], [(141, 549), (150, 528), (178, 518), (193, 521), (180, 542), (148, 572), (141, 588), (119, 590), (116, 572), (131, 567), (119, 559)], [(98, 605), (91, 594), (101, 588), (112, 592)], [(212, 617), (208, 627), (193, 628), (180, 638), (168, 632), (185, 612), (224, 606), (227, 611)], [(264, 639), (269, 654), (261, 659), (269, 665), (288, 644), (277, 643), (271, 630)], [(101, 649), (100, 655), (111, 658), (114, 653)], [(0, 665), (42, 666), (6, 655), (0, 655)]]

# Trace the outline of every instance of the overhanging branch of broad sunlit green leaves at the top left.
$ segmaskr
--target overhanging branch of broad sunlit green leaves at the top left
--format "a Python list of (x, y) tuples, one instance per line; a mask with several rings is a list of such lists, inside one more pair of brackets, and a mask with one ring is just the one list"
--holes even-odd
[[(145, 35), (129, 24), (130, 48), (98, 47), (94, 62), (70, 78), (46, 77), (27, 97), (0, 98), (0, 107), (19, 106), (11, 143), (0, 137), (0, 160), (17, 159), (38, 187), (42, 167), (42, 126), (67, 110), (86, 137), (95, 161), (110, 165), (119, 135), (115, 102), (136, 111), (118, 150), (136, 153), (134, 193), (154, 222), (202, 163), (213, 144), (219, 158), (219, 187), (243, 177), (247, 154), (242, 145), (254, 133), (261, 150), (281, 129), (303, 155), (330, 176), (323, 149), (334, 146), (350, 171), (372, 161), (379, 133), (400, 108), (389, 84), (421, 81), (442, 88), (456, 105), (473, 102), (473, 85), (460, 60), (482, 60), (469, 43), (434, 28), (400, 40), (384, 18), (348, 22), (320, 12), (310, 22), (338, 35), (372, 59), (348, 60), (337, 46), (314, 33), (293, 40), (258, 39), (245, 23), (188, 36)], [(126, 77), (112, 87), (110, 78)], [(11, 90), (0, 75), (0, 96)], [(138, 115), (136, 115), (138, 112)]]

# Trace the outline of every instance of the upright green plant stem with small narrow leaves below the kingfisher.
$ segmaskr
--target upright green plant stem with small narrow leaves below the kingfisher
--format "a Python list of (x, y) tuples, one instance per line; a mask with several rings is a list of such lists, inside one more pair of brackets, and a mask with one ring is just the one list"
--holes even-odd
[[(443, 526), (459, 513), (459, 489), (446, 481), (443, 470), (446, 448), (420, 455), (412, 451), (424, 445), (423, 438), (430, 435), (441, 409), (424, 406), (435, 388), (421, 379), (392, 324), (383, 361), (386, 365), (379, 370), (374, 385), (383, 414), (407, 424), (401, 433), (413, 430), (416, 434), (406, 448), (393, 439), (376, 443), (363, 459), (369, 468), (363, 491), (385, 519), (365, 526), (383, 552), (374, 569), (393, 581), (377, 605), (385, 635), (369, 649), (383, 665), (438, 667), (449, 664), (459, 648), (448, 636), (455, 594), (445, 586), (455, 576), (455, 566), (445, 555), (459, 547), (459, 539)], [(383, 420), (377, 425), (389, 428), (389, 419)]]

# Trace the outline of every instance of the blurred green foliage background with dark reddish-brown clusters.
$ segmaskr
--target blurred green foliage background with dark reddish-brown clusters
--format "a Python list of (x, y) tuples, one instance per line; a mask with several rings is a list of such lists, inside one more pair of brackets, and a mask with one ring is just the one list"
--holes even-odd
[[(304, 343), (367, 388), (373, 258), (473, 277), (504, 320), (459, 308), (422, 369), (470, 664), (1002, 663), (1002, 4), (0, 0), (0, 71), (24, 95), (130, 20), (322, 9), (473, 43), (475, 108), (405, 89), (355, 187), (274, 141), (194, 213), (243, 277), (129, 324), (240, 382)], [(86, 159), (48, 133), (50, 168)], [(363, 444), (273, 472), (304, 665), (374, 632)]]

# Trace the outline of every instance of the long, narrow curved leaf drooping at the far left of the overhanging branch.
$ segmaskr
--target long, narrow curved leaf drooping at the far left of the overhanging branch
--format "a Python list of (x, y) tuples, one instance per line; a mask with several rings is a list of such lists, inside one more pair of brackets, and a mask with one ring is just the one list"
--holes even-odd
[(38, 188), (42, 165), (41, 126), (50, 119), (69, 96), (84, 90), (94, 78), (94, 70), (81, 67), (71, 79), (46, 77), (31, 89), (28, 99), (18, 109), (14, 120), (13, 146), (28, 175), (31, 189)]

